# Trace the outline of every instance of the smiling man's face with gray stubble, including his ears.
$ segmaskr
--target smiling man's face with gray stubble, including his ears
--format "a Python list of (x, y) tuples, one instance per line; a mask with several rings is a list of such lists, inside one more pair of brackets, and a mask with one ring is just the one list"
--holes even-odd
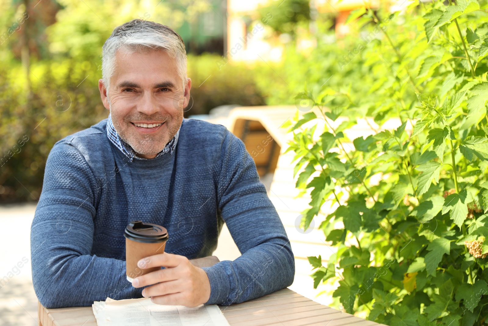
[(99, 81), (103, 105), (110, 109), (115, 130), (138, 156), (154, 158), (174, 137), (188, 105), (191, 81), (182, 81), (176, 59), (165, 51), (117, 51), (110, 90)]

